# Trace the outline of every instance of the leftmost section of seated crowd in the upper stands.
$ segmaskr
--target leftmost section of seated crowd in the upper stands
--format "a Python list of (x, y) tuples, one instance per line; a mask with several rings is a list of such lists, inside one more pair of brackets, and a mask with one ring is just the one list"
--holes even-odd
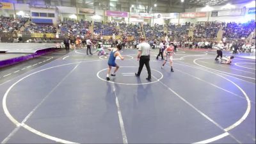
[(17, 31), (20, 27), (24, 26), (24, 24), (28, 21), (28, 18), (17, 17), (16, 19), (11, 17), (0, 17), (0, 32), (3, 33), (12, 33), (13, 31)]

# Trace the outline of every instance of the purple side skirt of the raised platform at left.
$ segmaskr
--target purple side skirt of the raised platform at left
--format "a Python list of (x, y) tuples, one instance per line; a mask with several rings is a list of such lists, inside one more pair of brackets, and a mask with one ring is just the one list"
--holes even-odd
[(22, 61), (30, 60), (32, 58), (36, 58), (38, 56), (42, 56), (44, 54), (47, 54), (49, 52), (54, 52), (56, 50), (58, 50), (58, 48), (52, 47), (52, 48), (47, 48), (47, 49), (42, 49), (42, 50), (36, 51), (35, 53), (29, 54), (26, 56), (19, 56), (17, 58), (10, 58), (8, 60), (3, 60), (3, 61), (0, 61), (0, 68), (7, 67), (9, 65), (14, 65), (15, 63), (20, 63)]

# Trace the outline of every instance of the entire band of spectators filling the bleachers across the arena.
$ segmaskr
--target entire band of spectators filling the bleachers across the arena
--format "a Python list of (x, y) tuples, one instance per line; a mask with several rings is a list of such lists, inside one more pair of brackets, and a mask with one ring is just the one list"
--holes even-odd
[[(0, 17), (0, 32), (12, 33), (13, 31), (19, 30), (22, 26), (24, 27), (23, 31), (26, 34), (31, 33), (58, 33), (63, 36), (88, 38), (90, 33), (90, 26), (93, 25), (93, 32), (97, 35), (97, 38), (100, 40), (103, 39), (103, 36), (120, 36), (121, 40), (125, 42), (136, 41), (137, 44), (140, 36), (145, 34), (148, 42), (152, 45), (156, 45), (159, 40), (176, 40), (180, 44), (190, 45), (193, 47), (212, 47), (211, 44), (214, 44), (214, 40), (205, 43), (205, 39), (217, 38), (217, 33), (220, 28), (223, 28), (223, 37), (230, 39), (236, 38), (241, 39), (242, 37), (248, 37), (255, 29), (255, 21), (249, 21), (244, 24), (236, 22), (198, 22), (197, 24), (190, 24), (186, 22), (184, 24), (168, 24), (168, 25), (159, 25), (155, 24), (150, 26), (150, 24), (127, 24), (124, 22), (88, 22), (84, 20), (75, 21), (75, 20), (65, 20), (60, 22), (58, 25), (45, 25), (45, 24), (33, 24), (28, 22), (28, 18), (17, 17), (16, 19), (10, 17)], [(194, 27), (193, 27), (194, 26)], [(164, 33), (164, 27), (168, 28), (167, 33)], [(188, 36), (189, 29), (193, 30), (193, 38)], [(63, 37), (62, 36), (62, 37)], [(129, 36), (134, 36), (134, 39), (127, 40)], [(200, 38), (204, 38), (199, 40)], [(113, 38), (114, 39), (114, 38)], [(131, 39), (131, 38), (129, 38)], [(110, 40), (109, 43), (114, 42)]]

